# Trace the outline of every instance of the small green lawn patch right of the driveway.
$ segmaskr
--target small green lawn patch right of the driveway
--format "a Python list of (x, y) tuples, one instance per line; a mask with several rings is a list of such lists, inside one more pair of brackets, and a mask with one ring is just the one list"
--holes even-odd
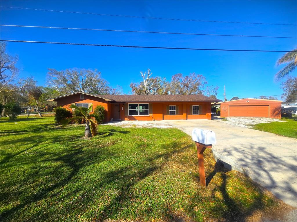
[(282, 120), (285, 120), (285, 122), (259, 123), (256, 124), (253, 129), (297, 138), (297, 117), (282, 118)]

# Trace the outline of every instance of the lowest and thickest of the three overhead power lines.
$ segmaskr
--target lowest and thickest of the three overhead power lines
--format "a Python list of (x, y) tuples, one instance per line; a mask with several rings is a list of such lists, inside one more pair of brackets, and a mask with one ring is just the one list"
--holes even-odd
[(103, 45), (103, 44), (86, 44), (86, 43), (68, 43), (68, 42), (44, 42), (44, 41), (23, 41), (23, 40), (6, 40), (4, 42), (25, 42), (25, 43), (45, 43), (45, 44), (64, 44), (64, 45), (80, 45), (80, 46), (108, 46), (108, 47), (124, 47), (124, 48), (144, 48), (144, 49), (184, 49), (184, 50), (206, 50), (206, 51), (233, 51), (233, 52), (290, 52), (278, 50), (248, 50), (248, 49), (200, 49), (200, 48), (177, 48), (177, 47), (157, 47), (157, 46), (123, 46), (123, 45)]

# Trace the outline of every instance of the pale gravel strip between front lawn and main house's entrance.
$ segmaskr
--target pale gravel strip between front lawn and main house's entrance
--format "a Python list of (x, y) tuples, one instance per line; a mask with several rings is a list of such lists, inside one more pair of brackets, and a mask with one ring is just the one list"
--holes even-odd
[(137, 128), (173, 128), (169, 124), (165, 123), (164, 121), (119, 121), (119, 122), (109, 122), (103, 123), (102, 125), (110, 125), (110, 126), (120, 126), (123, 128), (129, 127), (137, 127)]

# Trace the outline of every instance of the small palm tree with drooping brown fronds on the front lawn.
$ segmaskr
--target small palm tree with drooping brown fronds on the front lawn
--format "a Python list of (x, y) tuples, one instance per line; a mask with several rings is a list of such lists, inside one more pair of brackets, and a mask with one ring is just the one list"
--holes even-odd
[(77, 118), (82, 118), (82, 121), (85, 123), (86, 127), (85, 127), (85, 137), (90, 137), (90, 136), (95, 136), (98, 134), (98, 122), (100, 120), (99, 115), (97, 115), (96, 113), (92, 113), (90, 114), (90, 112), (92, 111), (92, 107), (93, 105), (91, 105), (89, 108), (86, 107), (78, 107), (75, 105), (71, 105), (70, 108), (78, 110), (83, 116), (72, 116), (69, 118), (66, 118), (62, 121), (62, 125), (66, 126), (67, 124), (69, 124), (69, 122), (71, 121), (75, 121), (77, 120)]

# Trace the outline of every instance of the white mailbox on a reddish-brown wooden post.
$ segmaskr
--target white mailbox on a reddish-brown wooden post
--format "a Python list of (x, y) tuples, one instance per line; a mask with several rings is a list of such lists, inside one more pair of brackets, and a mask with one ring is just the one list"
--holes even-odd
[(195, 128), (192, 131), (192, 139), (197, 146), (200, 184), (206, 187), (203, 152), (206, 148), (211, 148), (211, 144), (216, 143), (216, 135), (213, 131)]

